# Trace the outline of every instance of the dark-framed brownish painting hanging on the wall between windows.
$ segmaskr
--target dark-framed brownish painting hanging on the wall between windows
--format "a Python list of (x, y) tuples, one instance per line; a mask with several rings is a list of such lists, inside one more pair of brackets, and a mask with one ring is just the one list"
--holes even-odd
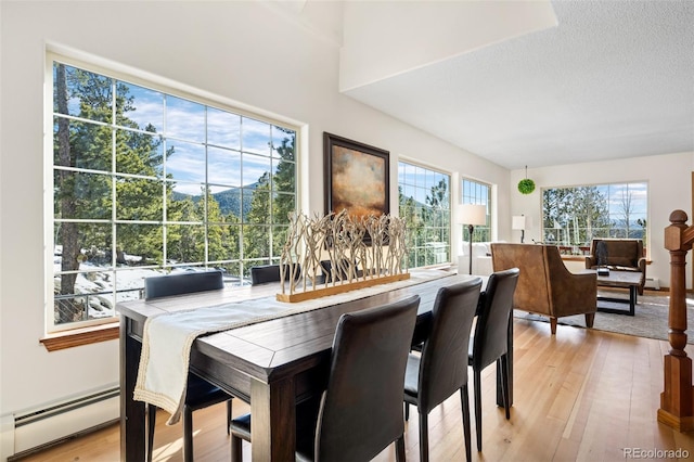
[(325, 215), (352, 218), (390, 213), (390, 153), (323, 132)]

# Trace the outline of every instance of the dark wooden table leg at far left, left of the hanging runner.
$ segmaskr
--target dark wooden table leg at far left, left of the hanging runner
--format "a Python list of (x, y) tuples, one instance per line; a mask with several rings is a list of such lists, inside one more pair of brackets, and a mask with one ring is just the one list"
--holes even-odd
[(144, 402), (132, 399), (142, 343), (130, 336), (130, 319), (120, 317), (120, 460), (145, 460)]

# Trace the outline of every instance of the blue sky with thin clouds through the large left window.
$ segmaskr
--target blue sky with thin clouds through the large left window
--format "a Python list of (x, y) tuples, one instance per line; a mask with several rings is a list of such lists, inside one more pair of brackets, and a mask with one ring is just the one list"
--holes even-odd
[[(99, 78), (112, 82), (110, 78)], [(255, 183), (266, 171), (277, 168), (280, 156), (271, 151), (270, 144), (281, 145), (287, 134), (271, 124), (137, 85), (125, 85), (132, 106), (127, 117), (141, 130), (151, 125), (156, 133), (164, 136), (166, 149), (174, 147), (174, 154), (166, 159), (165, 171), (177, 181), (176, 191), (200, 194), (207, 175), (213, 192), (220, 192)], [(78, 98), (68, 101), (68, 114), (80, 115)]]

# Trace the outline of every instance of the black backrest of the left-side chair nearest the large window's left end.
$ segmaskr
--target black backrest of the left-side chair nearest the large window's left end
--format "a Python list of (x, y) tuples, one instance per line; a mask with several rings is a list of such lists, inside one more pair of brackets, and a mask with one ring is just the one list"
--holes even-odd
[(222, 272), (219, 270), (181, 272), (144, 279), (145, 299), (218, 288), (224, 288)]

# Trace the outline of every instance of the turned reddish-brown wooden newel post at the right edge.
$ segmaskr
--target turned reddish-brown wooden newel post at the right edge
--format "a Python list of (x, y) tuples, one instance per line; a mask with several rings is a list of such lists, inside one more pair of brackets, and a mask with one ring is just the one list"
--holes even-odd
[(686, 214), (674, 210), (665, 229), (665, 248), (670, 251), (670, 307), (668, 339), (670, 351), (665, 356), (665, 390), (660, 394), (658, 422), (679, 432), (694, 429), (694, 387), (692, 359), (686, 356), (686, 253), (692, 248), (694, 227), (686, 226)]

